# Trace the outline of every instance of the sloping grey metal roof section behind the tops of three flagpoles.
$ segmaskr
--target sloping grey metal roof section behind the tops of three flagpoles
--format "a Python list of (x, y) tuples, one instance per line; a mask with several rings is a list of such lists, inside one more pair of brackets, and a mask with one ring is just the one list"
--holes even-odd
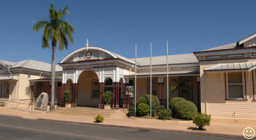
[[(130, 59), (135, 61), (135, 59)], [(140, 66), (149, 66), (150, 57), (137, 58), (137, 63)], [(169, 64), (184, 64), (184, 63), (198, 63), (195, 55), (193, 53), (180, 54), (180, 55), (168, 55)], [(165, 65), (166, 64), (166, 55), (152, 57), (152, 65)]]

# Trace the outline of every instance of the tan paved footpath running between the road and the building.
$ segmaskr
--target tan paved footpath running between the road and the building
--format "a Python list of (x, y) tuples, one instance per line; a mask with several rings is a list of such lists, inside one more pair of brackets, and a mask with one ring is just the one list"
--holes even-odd
[[(0, 108), (0, 115), (17, 116), (21, 118), (34, 120), (52, 120), (58, 122), (89, 123), (93, 125), (108, 125), (112, 127), (131, 127), (137, 129), (154, 129), (172, 131), (186, 134), (236, 137), (243, 138), (243, 130), (246, 127), (252, 127), (256, 130), (256, 120), (236, 119), (236, 122), (230, 118), (212, 118), (211, 125), (206, 126), (206, 130), (197, 130), (192, 121), (180, 120), (157, 120), (147, 118), (105, 118), (102, 123), (95, 123), (94, 118), (90, 116), (71, 116), (58, 115), (52, 113), (22, 113), (10, 109)], [(254, 137), (256, 139), (256, 137)]]

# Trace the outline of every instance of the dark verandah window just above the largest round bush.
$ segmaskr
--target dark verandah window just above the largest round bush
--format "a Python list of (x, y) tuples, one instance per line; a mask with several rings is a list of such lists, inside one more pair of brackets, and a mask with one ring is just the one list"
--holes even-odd
[(180, 77), (179, 83), (181, 83), (179, 86), (180, 97), (192, 100), (192, 77)]

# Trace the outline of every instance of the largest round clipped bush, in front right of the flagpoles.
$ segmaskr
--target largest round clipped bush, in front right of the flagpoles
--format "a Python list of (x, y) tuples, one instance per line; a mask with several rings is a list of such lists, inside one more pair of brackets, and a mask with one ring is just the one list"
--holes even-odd
[(179, 101), (174, 104), (174, 113), (175, 117), (184, 119), (184, 120), (192, 120), (196, 113), (197, 108), (196, 105), (191, 101)]

